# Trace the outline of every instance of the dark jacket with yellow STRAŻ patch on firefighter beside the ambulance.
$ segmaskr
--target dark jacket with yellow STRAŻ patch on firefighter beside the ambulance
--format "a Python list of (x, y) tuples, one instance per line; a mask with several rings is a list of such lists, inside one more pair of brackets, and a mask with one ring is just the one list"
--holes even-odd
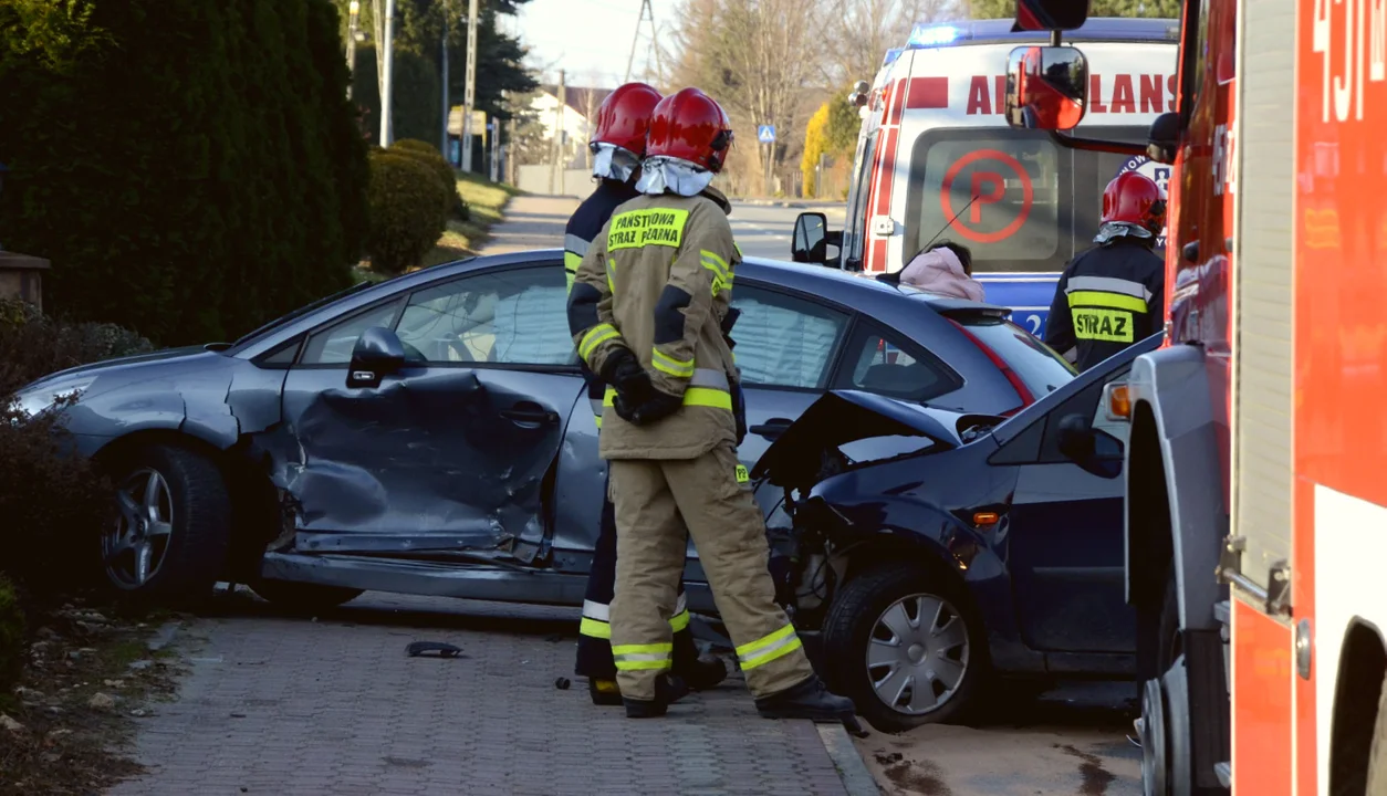
[(1056, 286), (1044, 341), (1082, 372), (1161, 331), (1165, 262), (1121, 236), (1069, 261)]

